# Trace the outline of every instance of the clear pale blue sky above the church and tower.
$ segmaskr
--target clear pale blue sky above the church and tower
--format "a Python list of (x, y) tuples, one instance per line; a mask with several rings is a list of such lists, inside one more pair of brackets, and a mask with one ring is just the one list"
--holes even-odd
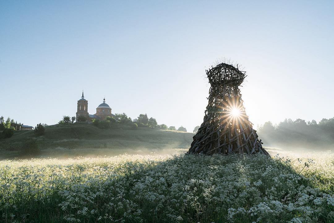
[(333, 1), (1, 1), (0, 115), (35, 126), (89, 113), (140, 113), (192, 131), (205, 69), (242, 64), (250, 120), (334, 116)]

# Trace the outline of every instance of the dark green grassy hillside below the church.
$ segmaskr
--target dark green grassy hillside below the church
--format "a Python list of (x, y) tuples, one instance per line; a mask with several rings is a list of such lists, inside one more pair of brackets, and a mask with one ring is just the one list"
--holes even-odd
[(45, 128), (43, 136), (36, 137), (33, 131), (16, 131), (11, 138), (0, 140), (0, 158), (22, 156), (25, 142), (30, 139), (36, 140), (41, 157), (73, 157), (167, 153), (170, 149), (188, 148), (192, 136), (192, 133), (147, 127), (99, 129), (91, 124), (51, 125)]

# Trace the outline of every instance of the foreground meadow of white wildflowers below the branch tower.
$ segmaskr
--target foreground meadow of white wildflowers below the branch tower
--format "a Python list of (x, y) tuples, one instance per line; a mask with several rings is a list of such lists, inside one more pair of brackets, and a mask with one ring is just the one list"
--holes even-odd
[(0, 222), (334, 222), (334, 155), (0, 161)]

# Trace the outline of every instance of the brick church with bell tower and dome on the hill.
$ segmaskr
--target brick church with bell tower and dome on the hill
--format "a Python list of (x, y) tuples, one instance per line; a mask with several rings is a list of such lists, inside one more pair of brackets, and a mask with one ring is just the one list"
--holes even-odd
[(107, 116), (114, 117), (115, 115), (111, 113), (110, 106), (106, 103), (106, 99), (103, 99), (103, 103), (100, 104), (96, 108), (96, 113), (94, 115), (90, 115), (88, 113), (88, 101), (83, 97), (83, 91), (81, 99), (78, 100), (77, 108), (76, 108), (76, 120), (78, 121), (78, 117), (85, 117), (88, 122), (91, 122), (92, 119), (104, 120)]

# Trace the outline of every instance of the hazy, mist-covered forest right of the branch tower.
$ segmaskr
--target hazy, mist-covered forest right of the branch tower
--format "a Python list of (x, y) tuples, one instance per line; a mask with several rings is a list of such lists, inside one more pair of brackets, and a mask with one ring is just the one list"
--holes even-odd
[(329, 150), (334, 145), (334, 117), (306, 122), (303, 119), (285, 119), (278, 125), (266, 122), (258, 127), (265, 146), (280, 146)]

